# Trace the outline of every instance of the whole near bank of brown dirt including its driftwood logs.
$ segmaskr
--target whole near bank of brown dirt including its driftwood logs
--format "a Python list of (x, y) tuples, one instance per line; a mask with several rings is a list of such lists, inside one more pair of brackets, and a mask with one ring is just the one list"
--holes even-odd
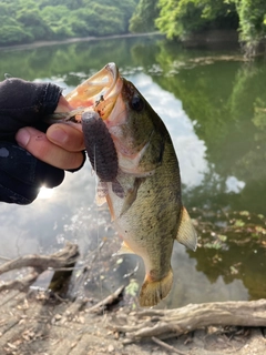
[[(109, 240), (109, 247), (102, 250), (106, 257), (111, 257), (113, 241)], [(94, 265), (98, 261), (91, 256), (80, 274), (83, 282), (94, 266), (100, 280), (101, 265)], [(264, 300), (146, 310), (137, 302), (132, 307), (129, 300), (135, 302), (135, 296), (126, 292), (124, 281), (102, 300), (85, 296), (82, 282), (79, 297), (71, 301), (63, 290), (71, 284), (69, 273), (73, 264), (78, 267), (80, 257), (78, 245), (69, 243), (52, 255), (27, 255), (0, 265), (0, 274), (24, 270), (20, 273), (23, 276), (0, 283), (2, 355), (265, 354)], [(57, 280), (61, 290), (30, 286), (39, 273), (39, 278), (45, 277), (51, 267), (58, 271), (50, 285), (54, 286)], [(79, 283), (78, 274), (72, 277)]]

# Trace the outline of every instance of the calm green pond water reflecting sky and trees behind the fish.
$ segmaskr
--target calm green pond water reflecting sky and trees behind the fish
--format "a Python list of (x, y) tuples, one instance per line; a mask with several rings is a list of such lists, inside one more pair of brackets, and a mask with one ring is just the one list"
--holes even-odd
[[(197, 223), (195, 253), (175, 245), (174, 287), (162, 304), (266, 297), (266, 62), (247, 65), (237, 51), (185, 50), (158, 38), (113, 39), (28, 50), (6, 50), (0, 75), (52, 81), (68, 93), (114, 61), (164, 120), (175, 145), (183, 200)], [(48, 253), (78, 242), (83, 260), (102, 240), (88, 290), (101, 295), (122, 283), (141, 284), (137, 257), (106, 257), (119, 237), (94, 204), (89, 163), (64, 183), (42, 190), (29, 206), (0, 205), (0, 255)], [(94, 258), (93, 258), (94, 260)], [(133, 281), (132, 281), (133, 280)]]

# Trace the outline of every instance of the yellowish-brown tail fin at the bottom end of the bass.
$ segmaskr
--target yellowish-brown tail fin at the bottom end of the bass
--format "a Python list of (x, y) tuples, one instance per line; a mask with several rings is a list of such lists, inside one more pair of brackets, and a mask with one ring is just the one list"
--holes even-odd
[(173, 271), (170, 268), (167, 275), (158, 281), (152, 281), (146, 275), (140, 293), (140, 305), (152, 307), (167, 296), (173, 284)]

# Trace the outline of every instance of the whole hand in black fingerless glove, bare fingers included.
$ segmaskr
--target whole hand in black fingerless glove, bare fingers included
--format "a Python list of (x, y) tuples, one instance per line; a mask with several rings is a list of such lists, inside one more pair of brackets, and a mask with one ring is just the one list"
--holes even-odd
[(0, 201), (31, 203), (41, 185), (54, 187), (64, 170), (83, 165), (79, 125), (43, 122), (45, 115), (70, 109), (61, 91), (51, 83), (20, 79), (0, 83)]

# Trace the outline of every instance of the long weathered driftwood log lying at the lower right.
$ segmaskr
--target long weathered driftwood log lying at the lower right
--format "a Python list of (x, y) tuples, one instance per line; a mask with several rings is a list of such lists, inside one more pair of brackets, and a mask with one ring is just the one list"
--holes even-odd
[(266, 326), (266, 300), (190, 304), (176, 310), (146, 310), (119, 314), (109, 324), (125, 334), (124, 344), (144, 338), (165, 339), (211, 325)]

